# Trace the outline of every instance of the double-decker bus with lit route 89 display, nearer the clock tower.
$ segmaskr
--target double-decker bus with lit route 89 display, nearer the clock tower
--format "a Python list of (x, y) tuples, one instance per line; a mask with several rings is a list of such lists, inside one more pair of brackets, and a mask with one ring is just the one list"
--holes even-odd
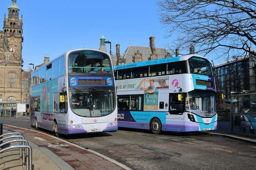
[(55, 135), (117, 130), (109, 54), (72, 50), (31, 73), (31, 124)]

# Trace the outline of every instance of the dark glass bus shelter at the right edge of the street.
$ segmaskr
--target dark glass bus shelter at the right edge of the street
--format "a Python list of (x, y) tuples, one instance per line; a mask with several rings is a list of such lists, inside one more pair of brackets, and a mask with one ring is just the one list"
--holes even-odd
[(256, 91), (231, 92), (231, 133), (256, 137)]

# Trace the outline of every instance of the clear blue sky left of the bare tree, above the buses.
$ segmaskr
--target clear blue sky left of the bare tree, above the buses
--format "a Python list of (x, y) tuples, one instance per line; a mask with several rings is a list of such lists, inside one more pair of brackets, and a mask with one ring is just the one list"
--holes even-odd
[[(0, 28), (11, 0), (2, 0)], [(29, 63), (38, 65), (48, 54), (50, 60), (76, 48), (99, 48), (100, 37), (121, 45), (121, 53), (131, 45), (149, 46), (155, 36), (156, 47), (165, 47), (173, 38), (164, 38), (165, 29), (159, 20), (157, 1), (153, 0), (17, 0), (23, 15), (23, 69)], [(109, 44), (106, 44), (109, 51)], [(174, 47), (175, 48), (175, 47)], [(181, 51), (182, 53), (182, 51)]]

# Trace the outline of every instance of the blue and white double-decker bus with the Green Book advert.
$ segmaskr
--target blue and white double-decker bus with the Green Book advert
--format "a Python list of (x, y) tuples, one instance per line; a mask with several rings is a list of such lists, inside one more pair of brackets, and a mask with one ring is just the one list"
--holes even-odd
[(118, 127), (191, 132), (217, 128), (215, 80), (199, 55), (115, 67)]

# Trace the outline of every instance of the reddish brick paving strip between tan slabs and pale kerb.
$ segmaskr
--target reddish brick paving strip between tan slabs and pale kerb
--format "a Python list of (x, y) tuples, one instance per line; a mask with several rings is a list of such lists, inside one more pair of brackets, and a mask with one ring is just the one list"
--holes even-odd
[[(75, 147), (70, 143), (63, 142), (55, 137), (31, 130), (19, 129), (5, 125), (3, 126), (3, 129), (20, 132), (27, 140), (35, 143), (38, 145), (38, 147), (47, 148), (63, 161), (71, 165), (74, 169), (123, 169), (100, 156), (97, 156), (87, 150)], [(35, 137), (39, 137), (42, 140)]]

